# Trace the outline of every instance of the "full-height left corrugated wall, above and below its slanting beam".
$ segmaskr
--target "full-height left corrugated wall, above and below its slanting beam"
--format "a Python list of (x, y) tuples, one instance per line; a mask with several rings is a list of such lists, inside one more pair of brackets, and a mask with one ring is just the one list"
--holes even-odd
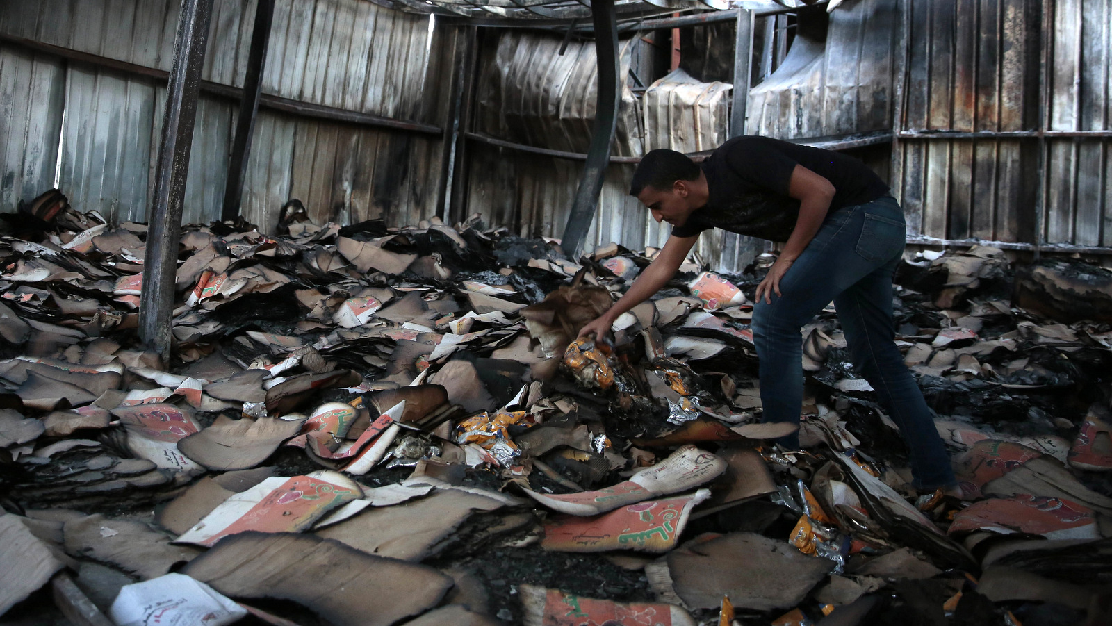
[[(177, 0), (0, 2), (0, 33), (169, 70)], [(241, 87), (255, 0), (216, 0), (202, 78)], [(451, 29), (439, 29), (440, 31)], [(403, 120), (441, 119), (430, 68), (429, 18), (365, 0), (278, 0), (264, 93)], [(451, 44), (450, 32), (437, 32)], [(437, 63), (433, 69), (439, 68)], [(433, 85), (426, 86), (426, 82)], [(158, 81), (69, 63), (0, 43), (0, 210), (60, 182), (70, 202), (120, 220), (145, 219), (166, 90)], [(202, 95), (198, 106), (187, 221), (220, 215), (238, 103)], [(62, 119), (64, 118), (64, 123)], [(260, 110), (242, 210), (274, 227), (300, 197), (319, 220), (434, 215), (440, 139)], [(429, 172), (433, 172), (430, 176)]]

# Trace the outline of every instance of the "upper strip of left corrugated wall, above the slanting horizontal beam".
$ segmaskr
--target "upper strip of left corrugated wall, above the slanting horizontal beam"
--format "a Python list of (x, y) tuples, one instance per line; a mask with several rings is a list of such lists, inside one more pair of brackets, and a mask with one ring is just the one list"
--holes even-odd
[[(6, 2), (0, 31), (169, 71), (176, 0)], [(257, 0), (216, 0), (201, 78), (241, 87)], [(247, 19), (245, 19), (245, 16)], [(266, 93), (410, 119), (420, 101), (429, 17), (366, 0), (278, 0)]]

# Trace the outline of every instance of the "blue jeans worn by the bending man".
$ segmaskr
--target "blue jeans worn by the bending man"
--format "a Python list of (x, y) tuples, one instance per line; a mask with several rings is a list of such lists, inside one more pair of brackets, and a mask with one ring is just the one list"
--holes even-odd
[[(892, 277), (904, 249), (903, 209), (886, 196), (843, 207), (822, 228), (780, 282), (782, 296), (762, 299), (753, 311), (753, 339), (761, 365), (764, 421), (800, 423), (803, 404), (800, 329), (831, 300), (854, 369), (876, 390), (911, 451), (914, 486), (956, 484), (931, 409), (894, 342)], [(798, 447), (798, 436), (780, 441)]]

